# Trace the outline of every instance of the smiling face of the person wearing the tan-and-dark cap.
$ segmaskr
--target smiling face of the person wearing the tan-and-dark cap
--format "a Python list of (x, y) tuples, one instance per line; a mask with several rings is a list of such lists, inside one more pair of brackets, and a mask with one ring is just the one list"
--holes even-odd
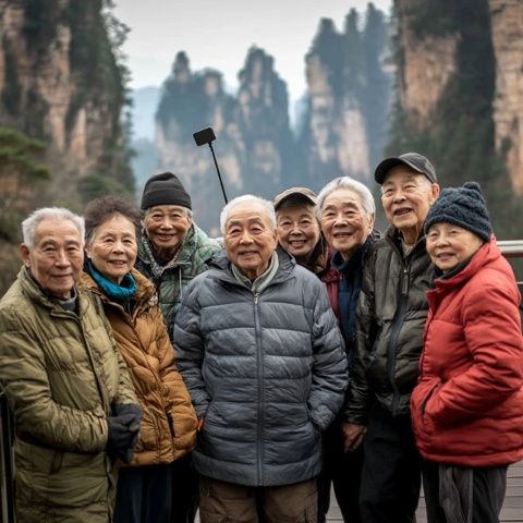
[(277, 211), (280, 245), (299, 260), (308, 260), (319, 242), (319, 223), (312, 205), (295, 205)]

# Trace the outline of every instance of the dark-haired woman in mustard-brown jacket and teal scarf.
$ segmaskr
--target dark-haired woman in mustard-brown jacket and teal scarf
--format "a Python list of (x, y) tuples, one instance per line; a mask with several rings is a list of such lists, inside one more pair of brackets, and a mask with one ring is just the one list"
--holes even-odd
[(124, 199), (85, 211), (84, 288), (98, 294), (144, 411), (131, 466), (120, 470), (115, 522), (170, 521), (171, 464), (195, 443), (196, 416), (174, 365), (155, 287), (133, 268), (141, 214)]

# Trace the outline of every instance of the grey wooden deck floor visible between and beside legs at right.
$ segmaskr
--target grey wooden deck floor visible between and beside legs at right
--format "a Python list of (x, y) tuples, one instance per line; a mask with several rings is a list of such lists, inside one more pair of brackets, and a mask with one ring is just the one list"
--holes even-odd
[[(336, 502), (335, 496), (332, 496)], [(332, 506), (328, 520), (329, 523), (341, 522), (340, 509)], [(424, 499), (419, 500), (417, 509), (417, 523), (426, 523)], [(501, 523), (523, 523), (523, 461), (512, 465), (507, 474), (507, 495), (504, 497), (503, 508), (501, 509)]]

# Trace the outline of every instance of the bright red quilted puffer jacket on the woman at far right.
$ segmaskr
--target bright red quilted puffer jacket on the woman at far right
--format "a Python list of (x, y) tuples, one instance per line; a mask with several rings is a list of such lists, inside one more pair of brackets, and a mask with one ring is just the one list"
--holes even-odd
[(459, 466), (523, 459), (523, 338), (514, 275), (496, 240), (428, 292), (411, 398), (422, 455)]

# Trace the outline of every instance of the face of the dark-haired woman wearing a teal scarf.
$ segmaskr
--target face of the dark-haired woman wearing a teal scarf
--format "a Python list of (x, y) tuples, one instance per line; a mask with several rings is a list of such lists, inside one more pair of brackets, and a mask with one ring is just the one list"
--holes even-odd
[(136, 230), (132, 221), (114, 215), (94, 231), (85, 245), (87, 257), (108, 280), (120, 283), (136, 262)]

